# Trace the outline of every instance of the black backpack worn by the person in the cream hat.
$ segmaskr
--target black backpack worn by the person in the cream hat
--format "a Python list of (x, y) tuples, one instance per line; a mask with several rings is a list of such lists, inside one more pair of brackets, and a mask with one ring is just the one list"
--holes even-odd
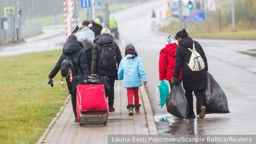
[(114, 43), (106, 44), (102, 46), (100, 55), (99, 55), (99, 63), (98, 66), (101, 69), (113, 69), (116, 68), (116, 48)]

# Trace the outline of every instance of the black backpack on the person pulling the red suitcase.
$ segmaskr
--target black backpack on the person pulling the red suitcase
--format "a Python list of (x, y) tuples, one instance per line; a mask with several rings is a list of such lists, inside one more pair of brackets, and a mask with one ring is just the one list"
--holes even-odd
[(72, 72), (72, 75), (77, 75), (79, 67), (76, 69), (76, 67), (73, 65), (73, 61), (71, 60), (76, 53), (71, 55), (71, 57), (66, 55), (66, 59), (61, 62), (61, 76), (63, 78), (67, 78), (70, 71)]

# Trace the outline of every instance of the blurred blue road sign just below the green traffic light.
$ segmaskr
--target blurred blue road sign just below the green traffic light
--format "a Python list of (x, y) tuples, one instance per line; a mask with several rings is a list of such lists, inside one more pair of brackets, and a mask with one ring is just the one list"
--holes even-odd
[[(205, 11), (204, 9), (191, 9), (191, 22), (205, 21)], [(183, 16), (183, 22), (190, 22), (189, 15)]]

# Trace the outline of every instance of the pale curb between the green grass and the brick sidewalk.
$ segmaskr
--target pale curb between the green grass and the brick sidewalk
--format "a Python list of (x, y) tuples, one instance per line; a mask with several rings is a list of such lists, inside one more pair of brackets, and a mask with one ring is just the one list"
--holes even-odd
[(69, 101), (71, 95), (67, 96), (66, 101), (64, 102), (64, 106), (60, 108), (59, 112), (56, 114), (56, 116), (52, 119), (52, 121), (50, 122), (50, 124), (48, 125), (47, 129), (44, 131), (43, 135), (39, 138), (39, 140), (37, 141), (36, 144), (41, 144), (42, 141), (44, 140), (44, 138), (47, 136), (48, 132), (51, 130), (52, 124), (55, 123), (55, 121), (58, 119), (59, 115), (61, 114), (61, 112), (63, 111), (63, 109), (66, 107), (67, 102)]

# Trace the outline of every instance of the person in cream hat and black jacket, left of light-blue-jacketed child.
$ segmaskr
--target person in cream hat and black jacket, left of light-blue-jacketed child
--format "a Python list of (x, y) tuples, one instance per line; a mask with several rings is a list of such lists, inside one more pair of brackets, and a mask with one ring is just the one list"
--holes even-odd
[[(107, 76), (109, 78), (110, 81), (110, 93), (108, 95), (108, 109), (109, 112), (113, 112), (115, 111), (115, 109), (113, 108), (113, 104), (114, 104), (114, 83), (115, 83), (115, 76), (117, 74), (116, 71), (116, 67), (114, 67), (113, 69), (102, 69), (99, 64), (102, 63), (102, 61), (99, 61), (101, 52), (102, 52), (102, 47), (106, 44), (111, 44), (113, 43), (113, 46), (116, 49), (116, 55), (117, 55), (117, 59), (116, 59), (116, 63), (117, 66), (119, 67), (119, 63), (122, 60), (122, 55), (119, 49), (119, 46), (116, 44), (116, 42), (113, 41), (113, 37), (112, 35), (110, 35), (110, 30), (108, 28), (102, 29), (101, 35), (97, 36), (94, 39), (94, 46), (93, 46), (93, 60), (92, 60), (92, 67), (91, 67), (91, 73), (92, 75), (100, 75), (100, 76)], [(108, 63), (108, 62), (106, 62)], [(106, 64), (105, 63), (105, 64)], [(114, 63), (115, 65), (115, 63)]]

